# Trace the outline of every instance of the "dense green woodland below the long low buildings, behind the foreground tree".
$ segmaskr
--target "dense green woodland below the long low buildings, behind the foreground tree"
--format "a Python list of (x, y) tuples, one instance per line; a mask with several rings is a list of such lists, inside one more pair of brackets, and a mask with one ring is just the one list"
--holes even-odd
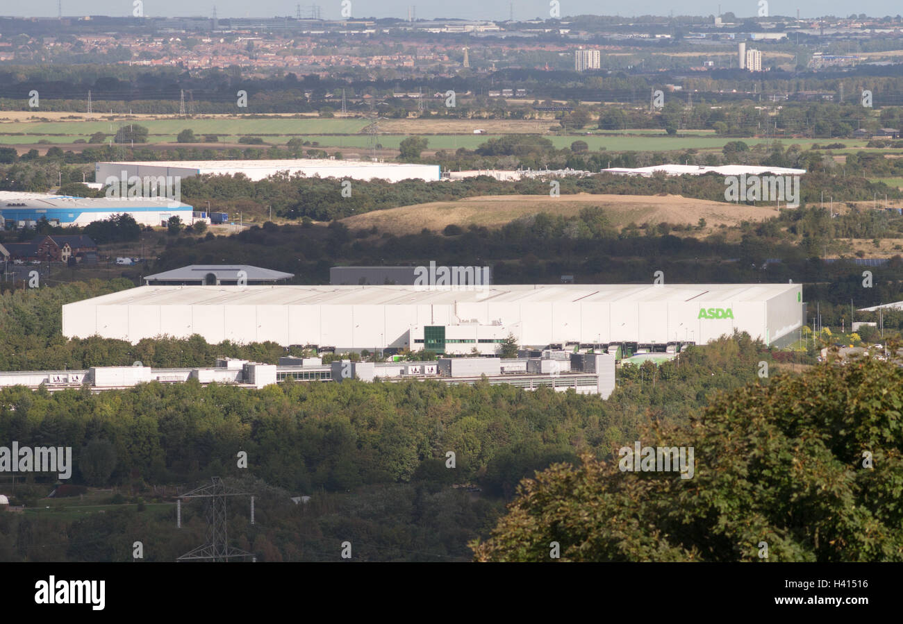
[[(489, 535), (523, 477), (584, 452), (609, 457), (649, 418), (685, 425), (718, 391), (757, 381), (763, 359), (771, 362), (762, 344), (724, 338), (660, 368), (628, 367), (608, 400), (434, 381), (260, 391), (152, 383), (97, 395), (7, 388), (0, 439), (71, 445), (66, 488), (117, 486), (103, 501), (132, 504), (85, 515), (62, 498), (47, 515), (2, 514), (0, 558), (126, 560), (133, 537), (126, 545), (123, 536), (137, 534), (148, 560), (172, 561), (200, 543), (205, 526), (200, 506), (189, 505), (176, 532), (172, 504), (161, 503), (174, 487), (217, 475), (258, 496), (256, 526), (235, 503), (230, 535), (261, 560), (333, 560), (346, 539), (365, 560), (467, 560), (468, 542)], [(241, 450), (247, 470), (237, 468)], [(33, 507), (54, 479), (30, 475), (14, 502)], [(168, 496), (154, 489), (167, 484)], [(454, 487), (468, 484), (480, 491)], [(312, 500), (288, 500), (299, 495)]]

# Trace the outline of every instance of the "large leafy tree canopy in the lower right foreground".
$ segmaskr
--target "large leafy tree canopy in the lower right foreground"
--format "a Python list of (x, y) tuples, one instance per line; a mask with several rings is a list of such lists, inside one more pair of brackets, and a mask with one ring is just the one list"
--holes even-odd
[(587, 454), (522, 482), (471, 547), (478, 561), (549, 561), (553, 542), (562, 561), (901, 561), (901, 407), (903, 371), (876, 360), (749, 385), (640, 437), (693, 446), (692, 479)]

